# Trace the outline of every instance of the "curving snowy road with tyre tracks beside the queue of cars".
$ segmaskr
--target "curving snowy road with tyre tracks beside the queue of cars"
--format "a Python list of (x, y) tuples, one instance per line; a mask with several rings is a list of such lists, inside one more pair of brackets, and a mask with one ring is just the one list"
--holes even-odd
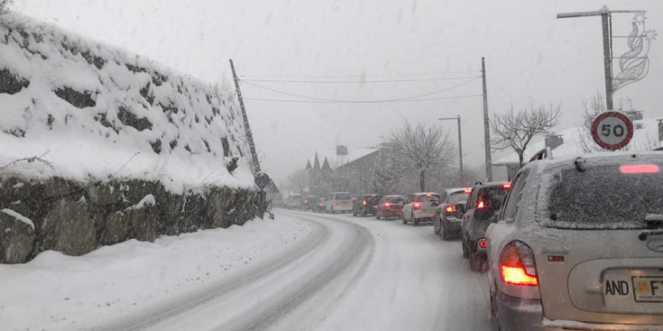
[(488, 330), (487, 284), (430, 226), (277, 211), (312, 231), (287, 250), (100, 329)]

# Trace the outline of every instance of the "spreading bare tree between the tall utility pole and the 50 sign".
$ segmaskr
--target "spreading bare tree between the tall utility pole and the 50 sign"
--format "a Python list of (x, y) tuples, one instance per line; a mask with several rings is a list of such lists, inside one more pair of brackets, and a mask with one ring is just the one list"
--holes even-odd
[(506, 114), (493, 114), (490, 125), (491, 146), (493, 151), (502, 151), (511, 148), (518, 153), (520, 167), (523, 165), (523, 155), (532, 138), (550, 133), (550, 129), (557, 124), (561, 106), (539, 105), (536, 108), (511, 110)]

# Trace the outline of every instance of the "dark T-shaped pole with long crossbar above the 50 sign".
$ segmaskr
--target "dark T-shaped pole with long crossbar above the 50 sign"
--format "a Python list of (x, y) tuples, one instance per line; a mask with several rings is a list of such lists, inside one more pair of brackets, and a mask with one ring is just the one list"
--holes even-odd
[(603, 70), (605, 72), (605, 106), (607, 110), (614, 110), (612, 104), (612, 14), (613, 13), (644, 13), (641, 10), (609, 10), (603, 6), (601, 10), (594, 12), (577, 12), (557, 14), (557, 18), (575, 18), (601, 16), (601, 25), (603, 27)]

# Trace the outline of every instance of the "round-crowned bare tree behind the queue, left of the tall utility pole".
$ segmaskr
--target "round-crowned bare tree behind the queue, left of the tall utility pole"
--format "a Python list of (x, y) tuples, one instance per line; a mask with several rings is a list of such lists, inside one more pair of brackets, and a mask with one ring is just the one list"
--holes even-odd
[(438, 172), (456, 162), (456, 144), (440, 126), (405, 122), (391, 133), (387, 147), (399, 173), (407, 177), (408, 172), (417, 172), (421, 191), (426, 190), (427, 171)]

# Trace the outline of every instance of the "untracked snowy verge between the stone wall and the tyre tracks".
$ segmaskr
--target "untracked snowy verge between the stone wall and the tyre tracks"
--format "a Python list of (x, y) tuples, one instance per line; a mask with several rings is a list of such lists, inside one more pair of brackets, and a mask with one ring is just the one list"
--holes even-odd
[(132, 240), (80, 257), (49, 251), (23, 265), (0, 265), (2, 328), (76, 329), (120, 317), (241, 271), (310, 231), (306, 222), (279, 217), (153, 244)]

